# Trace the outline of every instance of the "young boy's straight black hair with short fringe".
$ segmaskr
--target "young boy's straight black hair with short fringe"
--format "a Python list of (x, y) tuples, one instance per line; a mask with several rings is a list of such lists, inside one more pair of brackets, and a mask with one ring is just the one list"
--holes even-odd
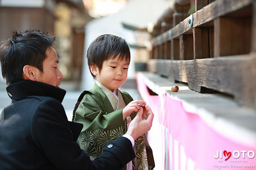
[[(90, 65), (93, 64), (101, 71), (104, 61), (114, 59), (118, 55), (120, 60), (125, 59), (130, 62), (130, 49), (126, 40), (111, 34), (99, 36), (90, 44), (87, 51), (89, 69)], [(96, 79), (93, 74), (92, 77)]]

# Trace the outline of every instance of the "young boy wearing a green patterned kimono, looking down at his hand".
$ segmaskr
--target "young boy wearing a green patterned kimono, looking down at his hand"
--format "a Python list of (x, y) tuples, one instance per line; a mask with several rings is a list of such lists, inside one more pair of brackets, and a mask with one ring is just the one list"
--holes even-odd
[[(90, 44), (87, 59), (97, 81), (90, 91), (80, 95), (73, 121), (84, 125), (77, 142), (94, 159), (109, 140), (127, 131), (136, 112), (146, 103), (133, 101), (128, 93), (118, 90), (127, 79), (130, 64), (130, 49), (124, 39), (109, 34), (99, 36)], [(123, 170), (148, 170), (143, 136), (135, 140), (135, 146), (136, 158)]]

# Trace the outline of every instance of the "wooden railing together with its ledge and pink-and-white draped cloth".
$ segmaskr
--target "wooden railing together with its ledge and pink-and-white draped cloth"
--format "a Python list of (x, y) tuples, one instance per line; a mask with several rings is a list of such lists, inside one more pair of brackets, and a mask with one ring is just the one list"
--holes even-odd
[[(191, 2), (174, 0), (156, 21), (148, 71), (137, 74), (155, 115), (156, 169), (255, 168), (256, 1), (195, 0), (188, 14)], [(252, 154), (234, 154), (243, 150)]]

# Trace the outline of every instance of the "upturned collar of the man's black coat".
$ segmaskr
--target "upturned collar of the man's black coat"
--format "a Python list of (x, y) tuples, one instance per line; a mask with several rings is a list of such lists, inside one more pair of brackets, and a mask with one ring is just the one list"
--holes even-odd
[(6, 90), (13, 102), (26, 99), (29, 96), (46, 96), (52, 97), (61, 103), (66, 94), (64, 89), (30, 80), (12, 83), (6, 87)]

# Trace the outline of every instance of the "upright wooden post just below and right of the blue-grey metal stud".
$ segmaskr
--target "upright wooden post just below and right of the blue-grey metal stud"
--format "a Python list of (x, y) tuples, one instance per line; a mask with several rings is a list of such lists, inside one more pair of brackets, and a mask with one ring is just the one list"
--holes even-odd
[(194, 59), (209, 58), (208, 28), (194, 28)]

